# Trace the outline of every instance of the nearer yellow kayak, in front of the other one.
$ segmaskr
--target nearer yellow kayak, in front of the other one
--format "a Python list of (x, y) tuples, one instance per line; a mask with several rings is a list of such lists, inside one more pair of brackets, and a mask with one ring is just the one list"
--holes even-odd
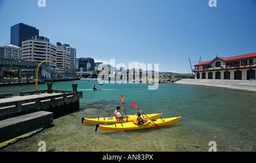
[[(177, 116), (174, 118), (161, 118), (153, 120), (155, 124), (158, 124), (159, 126), (162, 126), (164, 124), (170, 124), (177, 122), (181, 116)], [(154, 123), (151, 122), (151, 120), (148, 120), (144, 124), (135, 124), (133, 122), (125, 122), (125, 123), (117, 123), (117, 124), (109, 124), (109, 125), (96, 125), (95, 131), (97, 129), (100, 130), (127, 130), (127, 129), (142, 129), (142, 128), (149, 128), (149, 127), (155, 127)]]

